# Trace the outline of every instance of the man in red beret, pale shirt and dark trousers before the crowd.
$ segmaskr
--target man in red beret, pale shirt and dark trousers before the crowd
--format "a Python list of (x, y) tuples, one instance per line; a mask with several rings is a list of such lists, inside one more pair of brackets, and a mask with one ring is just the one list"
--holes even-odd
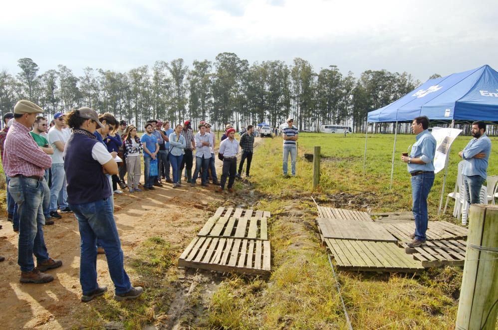
[(225, 182), (228, 180), (228, 191), (234, 192), (233, 186), (235, 175), (237, 174), (237, 154), (239, 153), (239, 142), (235, 140), (235, 129), (227, 130), (228, 138), (223, 140), (218, 151), (219, 157), (223, 158), (223, 170), (220, 186), (215, 190), (222, 192), (225, 189)]

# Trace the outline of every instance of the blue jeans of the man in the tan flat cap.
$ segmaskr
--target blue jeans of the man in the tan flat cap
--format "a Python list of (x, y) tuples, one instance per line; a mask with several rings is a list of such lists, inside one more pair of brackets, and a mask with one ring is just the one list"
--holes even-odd
[(17, 204), (19, 216), (19, 252), (17, 263), (22, 272), (34, 268), (33, 254), (38, 264), (48, 260), (47, 247), (43, 238), (43, 182), (36, 179), (17, 176), (8, 183), (10, 195)]

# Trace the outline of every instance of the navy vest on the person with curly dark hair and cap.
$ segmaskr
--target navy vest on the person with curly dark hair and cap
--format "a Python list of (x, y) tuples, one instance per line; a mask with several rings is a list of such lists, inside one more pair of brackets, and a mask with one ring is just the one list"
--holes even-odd
[(64, 147), (67, 201), (70, 204), (85, 204), (111, 196), (109, 179), (102, 172), (102, 165), (92, 157), (96, 143), (100, 142), (73, 133)]

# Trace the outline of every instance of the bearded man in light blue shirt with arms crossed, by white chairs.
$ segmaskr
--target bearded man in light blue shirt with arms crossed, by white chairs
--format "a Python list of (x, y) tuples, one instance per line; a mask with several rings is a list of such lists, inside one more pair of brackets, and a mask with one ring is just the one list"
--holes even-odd
[[(486, 135), (486, 123), (472, 123), (472, 139), (463, 151), (458, 153), (465, 161), (464, 176), (465, 196), (469, 204), (480, 203), (480, 192), (488, 176), (488, 161), (491, 153), (491, 140)], [(493, 191), (488, 192), (492, 194)]]

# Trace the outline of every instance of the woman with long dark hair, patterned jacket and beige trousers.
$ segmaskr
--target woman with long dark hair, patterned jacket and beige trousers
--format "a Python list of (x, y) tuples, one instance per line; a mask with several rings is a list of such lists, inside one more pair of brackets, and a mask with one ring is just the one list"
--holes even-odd
[(128, 126), (125, 138), (124, 153), (126, 159), (126, 169), (128, 170), (128, 191), (142, 191), (138, 188), (140, 182), (140, 154), (144, 150), (140, 138), (137, 136), (137, 128), (133, 125)]

